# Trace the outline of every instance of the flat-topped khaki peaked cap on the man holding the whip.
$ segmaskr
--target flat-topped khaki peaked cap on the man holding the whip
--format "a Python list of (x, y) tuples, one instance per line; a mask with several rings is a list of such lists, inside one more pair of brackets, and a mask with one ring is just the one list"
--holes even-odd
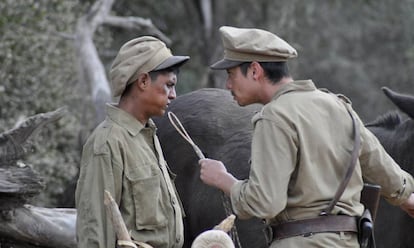
[(265, 30), (223, 26), (220, 34), (224, 58), (211, 65), (212, 69), (223, 70), (252, 61), (287, 61), (298, 56), (295, 48)]

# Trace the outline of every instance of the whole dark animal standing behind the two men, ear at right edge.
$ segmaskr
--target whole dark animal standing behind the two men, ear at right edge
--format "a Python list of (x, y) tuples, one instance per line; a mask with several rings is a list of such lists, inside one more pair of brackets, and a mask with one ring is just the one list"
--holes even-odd
[[(369, 124), (369, 128), (391, 156), (412, 173), (413, 153), (408, 149), (414, 142), (414, 100), (388, 89), (384, 91), (411, 119), (403, 121), (397, 113), (387, 114)], [(206, 157), (222, 160), (228, 171), (245, 179), (249, 174), (250, 119), (260, 108), (260, 105), (239, 107), (230, 93), (222, 89), (201, 89), (178, 97), (169, 111), (177, 115)], [(155, 121), (165, 158), (177, 174), (175, 182), (186, 212), (184, 247), (190, 247), (198, 234), (225, 218), (222, 193), (200, 181), (196, 154), (168, 118), (164, 116)], [(378, 247), (413, 247), (413, 219), (388, 203), (380, 205), (376, 229)], [(261, 220), (236, 220), (236, 227), (242, 247), (267, 247)]]

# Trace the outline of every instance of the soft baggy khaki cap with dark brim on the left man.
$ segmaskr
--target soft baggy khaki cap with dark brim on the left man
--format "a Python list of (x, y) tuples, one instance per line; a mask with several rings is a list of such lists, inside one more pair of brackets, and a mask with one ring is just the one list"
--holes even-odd
[(109, 72), (112, 95), (120, 96), (141, 73), (181, 66), (189, 59), (188, 56), (173, 56), (164, 42), (152, 36), (130, 40), (119, 50)]

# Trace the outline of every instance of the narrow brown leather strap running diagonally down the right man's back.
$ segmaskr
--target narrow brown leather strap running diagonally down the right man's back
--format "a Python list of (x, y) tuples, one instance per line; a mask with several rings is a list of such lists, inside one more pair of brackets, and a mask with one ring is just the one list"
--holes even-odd
[(354, 149), (352, 150), (352, 157), (351, 160), (348, 163), (348, 170), (346, 171), (346, 174), (344, 178), (342, 179), (341, 184), (339, 185), (338, 189), (336, 190), (334, 198), (329, 203), (328, 207), (323, 210), (320, 215), (329, 215), (332, 212), (332, 209), (335, 207), (336, 203), (339, 201), (339, 198), (341, 197), (342, 193), (344, 193), (346, 186), (349, 183), (349, 180), (351, 179), (351, 176), (354, 172), (356, 161), (358, 159), (359, 154), (359, 148), (361, 146), (361, 140), (360, 140), (360, 130), (359, 130), (359, 124), (358, 120), (355, 119), (354, 115), (352, 114), (350, 107), (346, 104), (346, 110), (348, 111), (348, 114), (351, 116), (352, 119), (352, 125), (354, 129)]

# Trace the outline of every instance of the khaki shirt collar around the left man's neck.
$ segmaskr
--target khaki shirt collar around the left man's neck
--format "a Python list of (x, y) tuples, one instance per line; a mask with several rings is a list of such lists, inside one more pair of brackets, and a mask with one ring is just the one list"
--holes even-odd
[(135, 117), (130, 115), (128, 112), (120, 109), (113, 103), (106, 104), (106, 112), (108, 118), (119, 126), (125, 128), (132, 136), (137, 135), (143, 128), (149, 127), (152, 130), (156, 129), (155, 123), (152, 119), (149, 119), (147, 126), (144, 126)]

